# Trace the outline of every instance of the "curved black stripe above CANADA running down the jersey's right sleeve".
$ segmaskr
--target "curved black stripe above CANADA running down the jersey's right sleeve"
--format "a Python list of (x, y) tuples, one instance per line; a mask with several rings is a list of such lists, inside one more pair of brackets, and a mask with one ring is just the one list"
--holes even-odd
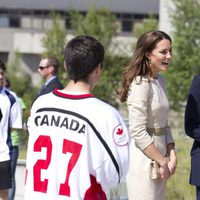
[(96, 136), (98, 137), (98, 139), (101, 141), (101, 143), (103, 144), (104, 148), (106, 149), (106, 151), (108, 152), (116, 170), (117, 170), (117, 173), (118, 173), (118, 176), (119, 176), (119, 181), (118, 183), (120, 183), (120, 172), (119, 172), (119, 165), (112, 153), (112, 151), (110, 150), (109, 146), (107, 145), (107, 143), (105, 142), (105, 140), (102, 138), (101, 134), (97, 131), (97, 129), (94, 127), (94, 125), (84, 116), (78, 114), (78, 113), (75, 113), (75, 112), (72, 112), (72, 111), (69, 111), (69, 110), (63, 110), (63, 109), (59, 109), (59, 108), (40, 108), (36, 111), (36, 113), (39, 113), (39, 112), (45, 112), (45, 111), (48, 111), (48, 112), (60, 112), (60, 113), (65, 113), (65, 114), (68, 114), (68, 115), (73, 115), (73, 116), (76, 116), (84, 121), (86, 121), (90, 127), (93, 129), (93, 131), (95, 132)]

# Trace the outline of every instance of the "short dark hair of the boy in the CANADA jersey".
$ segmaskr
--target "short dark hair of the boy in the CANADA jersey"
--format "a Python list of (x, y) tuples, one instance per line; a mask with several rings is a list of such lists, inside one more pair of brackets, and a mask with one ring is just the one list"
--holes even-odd
[(102, 65), (104, 47), (91, 36), (77, 36), (67, 43), (64, 59), (69, 79), (74, 82), (87, 80), (88, 75)]

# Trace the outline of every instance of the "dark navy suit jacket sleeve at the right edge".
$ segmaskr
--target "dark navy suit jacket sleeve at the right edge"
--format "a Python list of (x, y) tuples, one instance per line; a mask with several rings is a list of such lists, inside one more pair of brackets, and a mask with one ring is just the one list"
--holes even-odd
[(200, 75), (196, 75), (190, 86), (185, 109), (185, 132), (200, 142)]

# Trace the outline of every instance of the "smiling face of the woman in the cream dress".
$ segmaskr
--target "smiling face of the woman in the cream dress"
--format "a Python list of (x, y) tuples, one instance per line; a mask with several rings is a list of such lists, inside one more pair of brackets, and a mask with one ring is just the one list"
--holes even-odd
[(148, 55), (148, 58), (151, 61), (153, 77), (156, 77), (159, 71), (166, 71), (168, 69), (171, 57), (171, 42), (167, 39), (163, 39), (160, 42), (158, 42), (156, 48)]

